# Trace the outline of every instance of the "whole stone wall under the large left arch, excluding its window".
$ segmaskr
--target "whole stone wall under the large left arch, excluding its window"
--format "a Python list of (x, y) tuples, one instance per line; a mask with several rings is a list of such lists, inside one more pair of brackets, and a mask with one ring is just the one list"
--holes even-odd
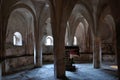
[[(26, 13), (26, 14), (24, 14)], [(28, 19), (29, 17), (29, 19)], [(32, 15), (28, 10), (16, 9), (8, 19), (5, 43), (5, 73), (29, 69), (34, 66), (34, 37)], [(13, 44), (13, 36), (19, 32), (22, 45)], [(29, 67), (28, 67), (29, 66)]]

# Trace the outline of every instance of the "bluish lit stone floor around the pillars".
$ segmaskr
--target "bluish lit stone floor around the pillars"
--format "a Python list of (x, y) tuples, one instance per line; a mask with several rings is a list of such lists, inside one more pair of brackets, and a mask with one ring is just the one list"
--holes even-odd
[[(92, 64), (74, 64), (75, 72), (66, 71), (67, 80), (118, 80), (117, 70), (109, 66), (94, 69)], [(2, 80), (55, 80), (54, 65), (46, 64), (42, 68), (7, 75)]]

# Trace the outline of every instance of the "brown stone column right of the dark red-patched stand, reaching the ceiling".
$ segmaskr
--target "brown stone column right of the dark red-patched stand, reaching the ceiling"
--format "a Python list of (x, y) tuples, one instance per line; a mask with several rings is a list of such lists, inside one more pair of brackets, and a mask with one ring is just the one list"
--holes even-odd
[(93, 3), (93, 20), (94, 20), (93, 65), (94, 65), (94, 68), (101, 67), (101, 40), (100, 40), (100, 37), (98, 36), (99, 30), (97, 28), (99, 27), (98, 19), (97, 19), (97, 6), (98, 6), (98, 1), (95, 1), (95, 3)]

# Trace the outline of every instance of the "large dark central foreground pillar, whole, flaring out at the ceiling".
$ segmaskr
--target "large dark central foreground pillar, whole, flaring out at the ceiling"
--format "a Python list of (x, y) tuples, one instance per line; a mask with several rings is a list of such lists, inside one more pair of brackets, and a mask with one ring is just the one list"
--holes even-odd
[(51, 24), (54, 38), (55, 77), (65, 79), (65, 31), (67, 20), (77, 0), (49, 0), (51, 3)]

